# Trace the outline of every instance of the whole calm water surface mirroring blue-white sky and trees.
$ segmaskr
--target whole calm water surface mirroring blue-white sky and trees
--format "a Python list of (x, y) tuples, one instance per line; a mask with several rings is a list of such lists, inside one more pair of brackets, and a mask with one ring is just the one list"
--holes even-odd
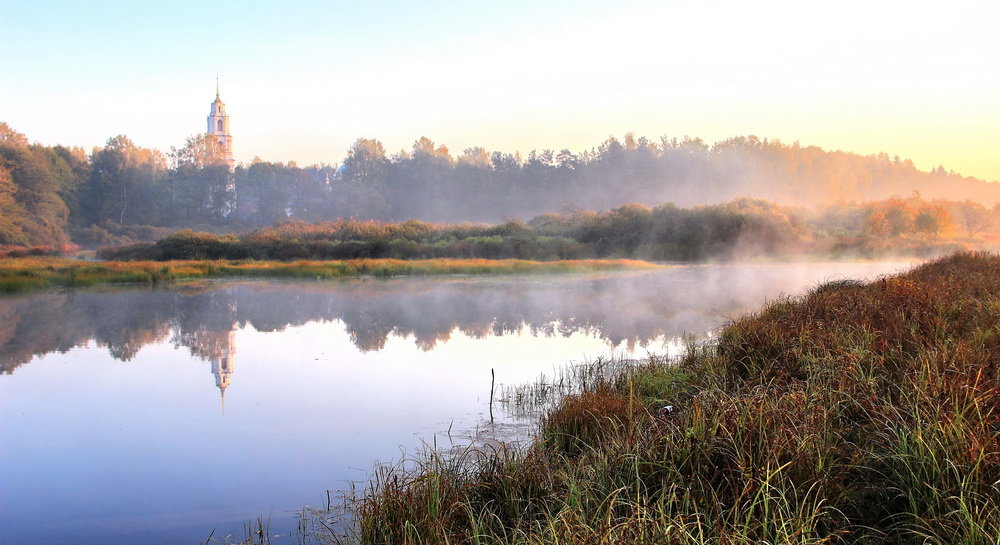
[(661, 352), (781, 293), (901, 266), (3, 298), (0, 542), (198, 542), (267, 513), (287, 531), (289, 510), (399, 445), (481, 423), (491, 368), (517, 384), (570, 360)]

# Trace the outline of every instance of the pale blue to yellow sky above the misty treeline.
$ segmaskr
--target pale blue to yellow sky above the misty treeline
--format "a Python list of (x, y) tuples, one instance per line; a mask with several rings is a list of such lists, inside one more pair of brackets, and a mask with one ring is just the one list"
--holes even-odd
[(985, 0), (0, 0), (0, 121), (169, 151), (219, 74), (242, 162), (752, 134), (1000, 181), (997, 21)]

